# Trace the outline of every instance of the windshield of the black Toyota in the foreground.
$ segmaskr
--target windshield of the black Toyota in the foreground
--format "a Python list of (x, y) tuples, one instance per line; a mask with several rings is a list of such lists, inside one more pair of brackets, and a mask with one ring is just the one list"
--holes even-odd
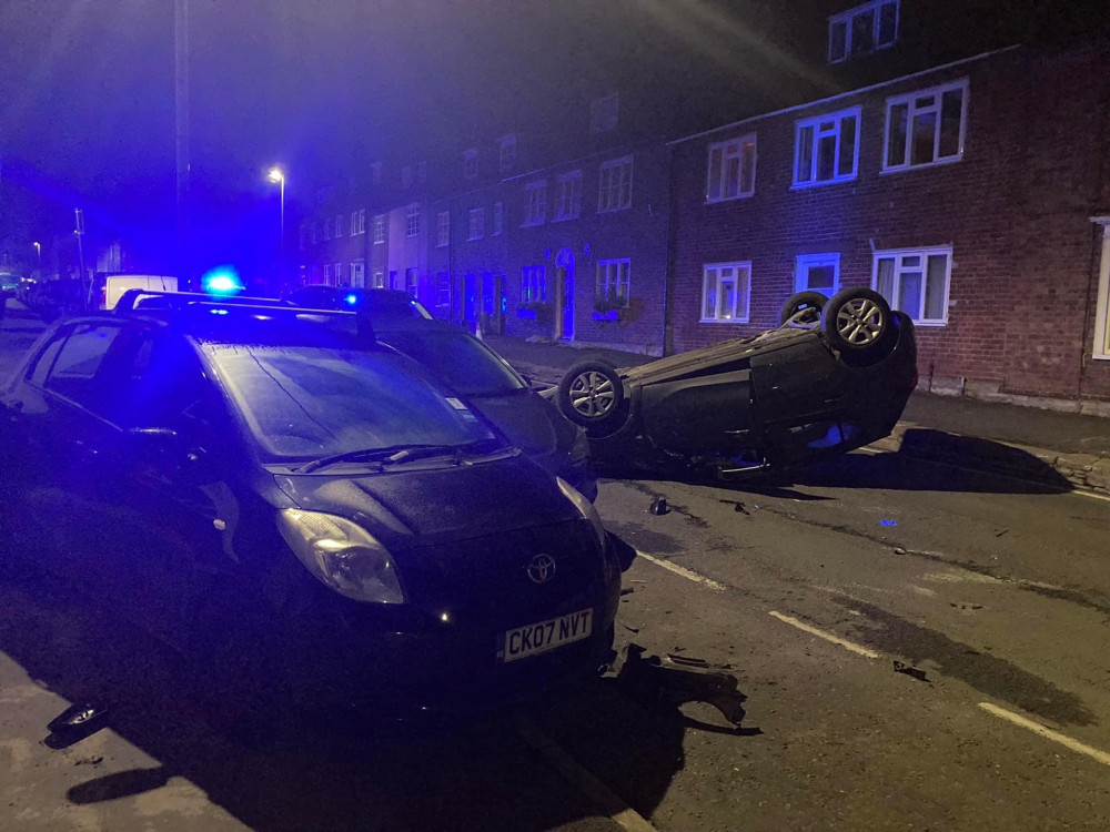
[(313, 346), (203, 349), (266, 463), (493, 438), (403, 356)]

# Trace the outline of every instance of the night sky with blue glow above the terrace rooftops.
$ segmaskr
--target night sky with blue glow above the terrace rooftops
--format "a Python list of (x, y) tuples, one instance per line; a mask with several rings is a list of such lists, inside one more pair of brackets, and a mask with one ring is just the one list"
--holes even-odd
[[(967, 3), (927, 6), (959, 28)], [(672, 135), (833, 91), (820, 60), (808, 69), (779, 44), (820, 58), (825, 17), (851, 2), (189, 6), (194, 193), (199, 205), (232, 217), (272, 195), (263, 180), (272, 163), (286, 168), (295, 196), (297, 185), (375, 156), (467, 146), (614, 89), (623, 106), (629, 91), (629, 103), (637, 92), (655, 95), (653, 116)], [(0, 158), (9, 180), (31, 171), (32, 190), (61, 204), (164, 225), (173, 195), (173, 0), (0, 0)]]

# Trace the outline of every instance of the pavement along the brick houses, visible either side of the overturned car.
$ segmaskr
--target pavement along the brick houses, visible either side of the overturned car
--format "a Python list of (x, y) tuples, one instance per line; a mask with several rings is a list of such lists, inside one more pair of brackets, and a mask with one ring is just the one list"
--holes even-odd
[[(537, 384), (557, 384), (574, 364), (603, 359), (632, 367), (652, 357), (616, 349), (485, 337)], [(874, 449), (950, 466), (1110, 494), (1110, 419), (917, 392), (891, 435)]]

